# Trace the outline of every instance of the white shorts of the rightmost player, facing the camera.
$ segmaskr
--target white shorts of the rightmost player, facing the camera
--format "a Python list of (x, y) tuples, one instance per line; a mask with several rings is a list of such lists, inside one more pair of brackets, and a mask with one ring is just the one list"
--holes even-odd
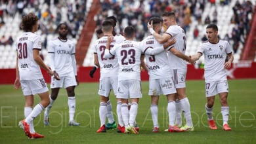
[(205, 82), (205, 96), (215, 96), (222, 92), (228, 92), (228, 81)]

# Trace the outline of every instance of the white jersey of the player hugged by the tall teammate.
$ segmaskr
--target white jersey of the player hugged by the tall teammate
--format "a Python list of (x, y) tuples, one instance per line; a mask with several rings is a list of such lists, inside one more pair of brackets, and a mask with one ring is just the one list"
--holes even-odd
[[(146, 52), (148, 48), (158, 48), (162, 46), (153, 35), (149, 35), (141, 42), (142, 52)], [(146, 62), (148, 65), (148, 73), (150, 75), (150, 79), (161, 79), (164, 77), (171, 76), (171, 69), (169, 67), (169, 62), (167, 58), (167, 54), (165, 51), (156, 55), (145, 54)]]

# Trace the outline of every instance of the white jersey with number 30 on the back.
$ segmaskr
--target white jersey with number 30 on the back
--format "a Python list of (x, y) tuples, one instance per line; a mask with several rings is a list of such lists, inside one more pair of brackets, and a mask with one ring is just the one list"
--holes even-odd
[(18, 71), (20, 80), (42, 79), (40, 66), (33, 60), (33, 49), (41, 50), (41, 37), (32, 32), (24, 32), (16, 40)]

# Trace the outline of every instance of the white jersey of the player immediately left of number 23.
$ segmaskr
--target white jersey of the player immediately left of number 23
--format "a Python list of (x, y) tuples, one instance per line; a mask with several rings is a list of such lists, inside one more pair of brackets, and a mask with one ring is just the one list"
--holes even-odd
[[(94, 53), (98, 55), (98, 63), (100, 63), (100, 79), (103, 77), (116, 76), (119, 69), (116, 56), (112, 56), (112, 58), (103, 58), (107, 41), (108, 36), (103, 36), (100, 39), (97, 39), (94, 45)], [(123, 36), (115, 36), (112, 43), (110, 43), (110, 48), (123, 41)]]

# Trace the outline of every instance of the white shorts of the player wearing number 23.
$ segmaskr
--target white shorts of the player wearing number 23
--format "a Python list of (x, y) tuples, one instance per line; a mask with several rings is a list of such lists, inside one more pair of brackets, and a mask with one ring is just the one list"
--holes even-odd
[(139, 80), (123, 80), (118, 81), (116, 98), (129, 99), (129, 98), (142, 98), (141, 84)]

